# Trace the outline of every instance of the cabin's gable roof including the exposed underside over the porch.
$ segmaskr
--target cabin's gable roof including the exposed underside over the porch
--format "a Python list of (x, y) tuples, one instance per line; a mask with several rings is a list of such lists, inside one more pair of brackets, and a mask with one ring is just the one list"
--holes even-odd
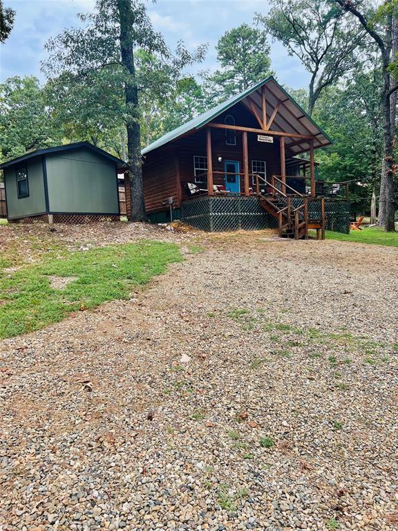
[[(211, 120), (217, 118), (220, 114), (231, 109), (232, 106), (236, 105), (239, 102), (243, 102), (247, 109), (250, 110), (249, 104), (245, 101), (247, 96), (250, 96), (255, 104), (258, 105), (258, 111), (261, 109), (261, 94), (258, 93), (258, 88), (262, 86), (265, 87), (265, 99), (267, 101), (267, 118), (272, 115), (274, 109), (279, 104), (276, 117), (272, 123), (270, 131), (282, 131), (284, 133), (292, 134), (302, 134), (308, 136), (314, 136), (314, 148), (325, 147), (332, 144), (330, 137), (310, 118), (301, 106), (290, 96), (283, 86), (281, 86), (272, 75), (267, 77), (265, 80), (256, 83), (255, 85), (247, 88), (245, 91), (240, 94), (231, 97), (229, 100), (222, 102), (209, 111), (202, 113), (201, 115), (189, 120), (185, 124), (173, 129), (169, 133), (166, 133), (162, 137), (152, 142), (150, 145), (146, 146), (142, 150), (142, 155), (146, 155), (149, 151), (153, 149), (158, 149), (171, 140), (176, 140), (182, 135), (185, 135), (191, 131), (201, 129), (207, 125)], [(238, 125), (238, 124), (236, 124)], [(273, 126), (276, 126), (277, 129), (274, 129)], [(290, 142), (289, 142), (290, 140)], [(294, 155), (299, 153), (304, 153), (310, 149), (310, 144), (308, 141), (300, 140), (300, 143), (297, 143), (296, 138), (286, 138), (286, 147), (288, 147)]]

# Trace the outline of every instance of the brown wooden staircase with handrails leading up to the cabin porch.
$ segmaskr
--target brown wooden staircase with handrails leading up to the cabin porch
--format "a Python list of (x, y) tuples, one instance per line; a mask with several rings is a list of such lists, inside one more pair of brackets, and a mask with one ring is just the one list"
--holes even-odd
[[(278, 230), (281, 238), (307, 239), (308, 229), (315, 229), (317, 238), (325, 239), (324, 198), (306, 197), (290, 187), (295, 192), (294, 196), (303, 199), (303, 203), (295, 207), (292, 204), (291, 196), (287, 196), (287, 194), (278, 190), (274, 185), (267, 183), (267, 181), (265, 183), (272, 187), (274, 193), (265, 196), (260, 193), (259, 186), (257, 186), (258, 201), (265, 212), (268, 212), (278, 220)], [(287, 187), (288, 185), (285, 186)], [(310, 221), (308, 216), (308, 204), (310, 202), (320, 203), (319, 219), (312, 218)]]

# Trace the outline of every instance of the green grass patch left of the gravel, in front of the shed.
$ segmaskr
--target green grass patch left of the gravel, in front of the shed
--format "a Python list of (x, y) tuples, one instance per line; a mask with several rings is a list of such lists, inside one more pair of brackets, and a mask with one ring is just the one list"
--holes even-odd
[[(177, 245), (142, 241), (42, 259), (14, 272), (0, 264), (0, 338), (43, 328), (75, 310), (128, 299), (167, 264), (181, 260)], [(56, 289), (50, 275), (75, 279)]]

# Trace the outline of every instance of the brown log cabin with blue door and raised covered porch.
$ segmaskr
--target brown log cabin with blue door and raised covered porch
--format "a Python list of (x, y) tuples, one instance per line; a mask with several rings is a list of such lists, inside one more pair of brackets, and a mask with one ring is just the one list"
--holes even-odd
[[(202, 230), (278, 227), (305, 238), (347, 232), (348, 184), (316, 178), (314, 151), (332, 140), (274, 77), (258, 82), (142, 150), (146, 212)], [(305, 155), (305, 156), (303, 156)], [(129, 187), (126, 186), (129, 214)]]

